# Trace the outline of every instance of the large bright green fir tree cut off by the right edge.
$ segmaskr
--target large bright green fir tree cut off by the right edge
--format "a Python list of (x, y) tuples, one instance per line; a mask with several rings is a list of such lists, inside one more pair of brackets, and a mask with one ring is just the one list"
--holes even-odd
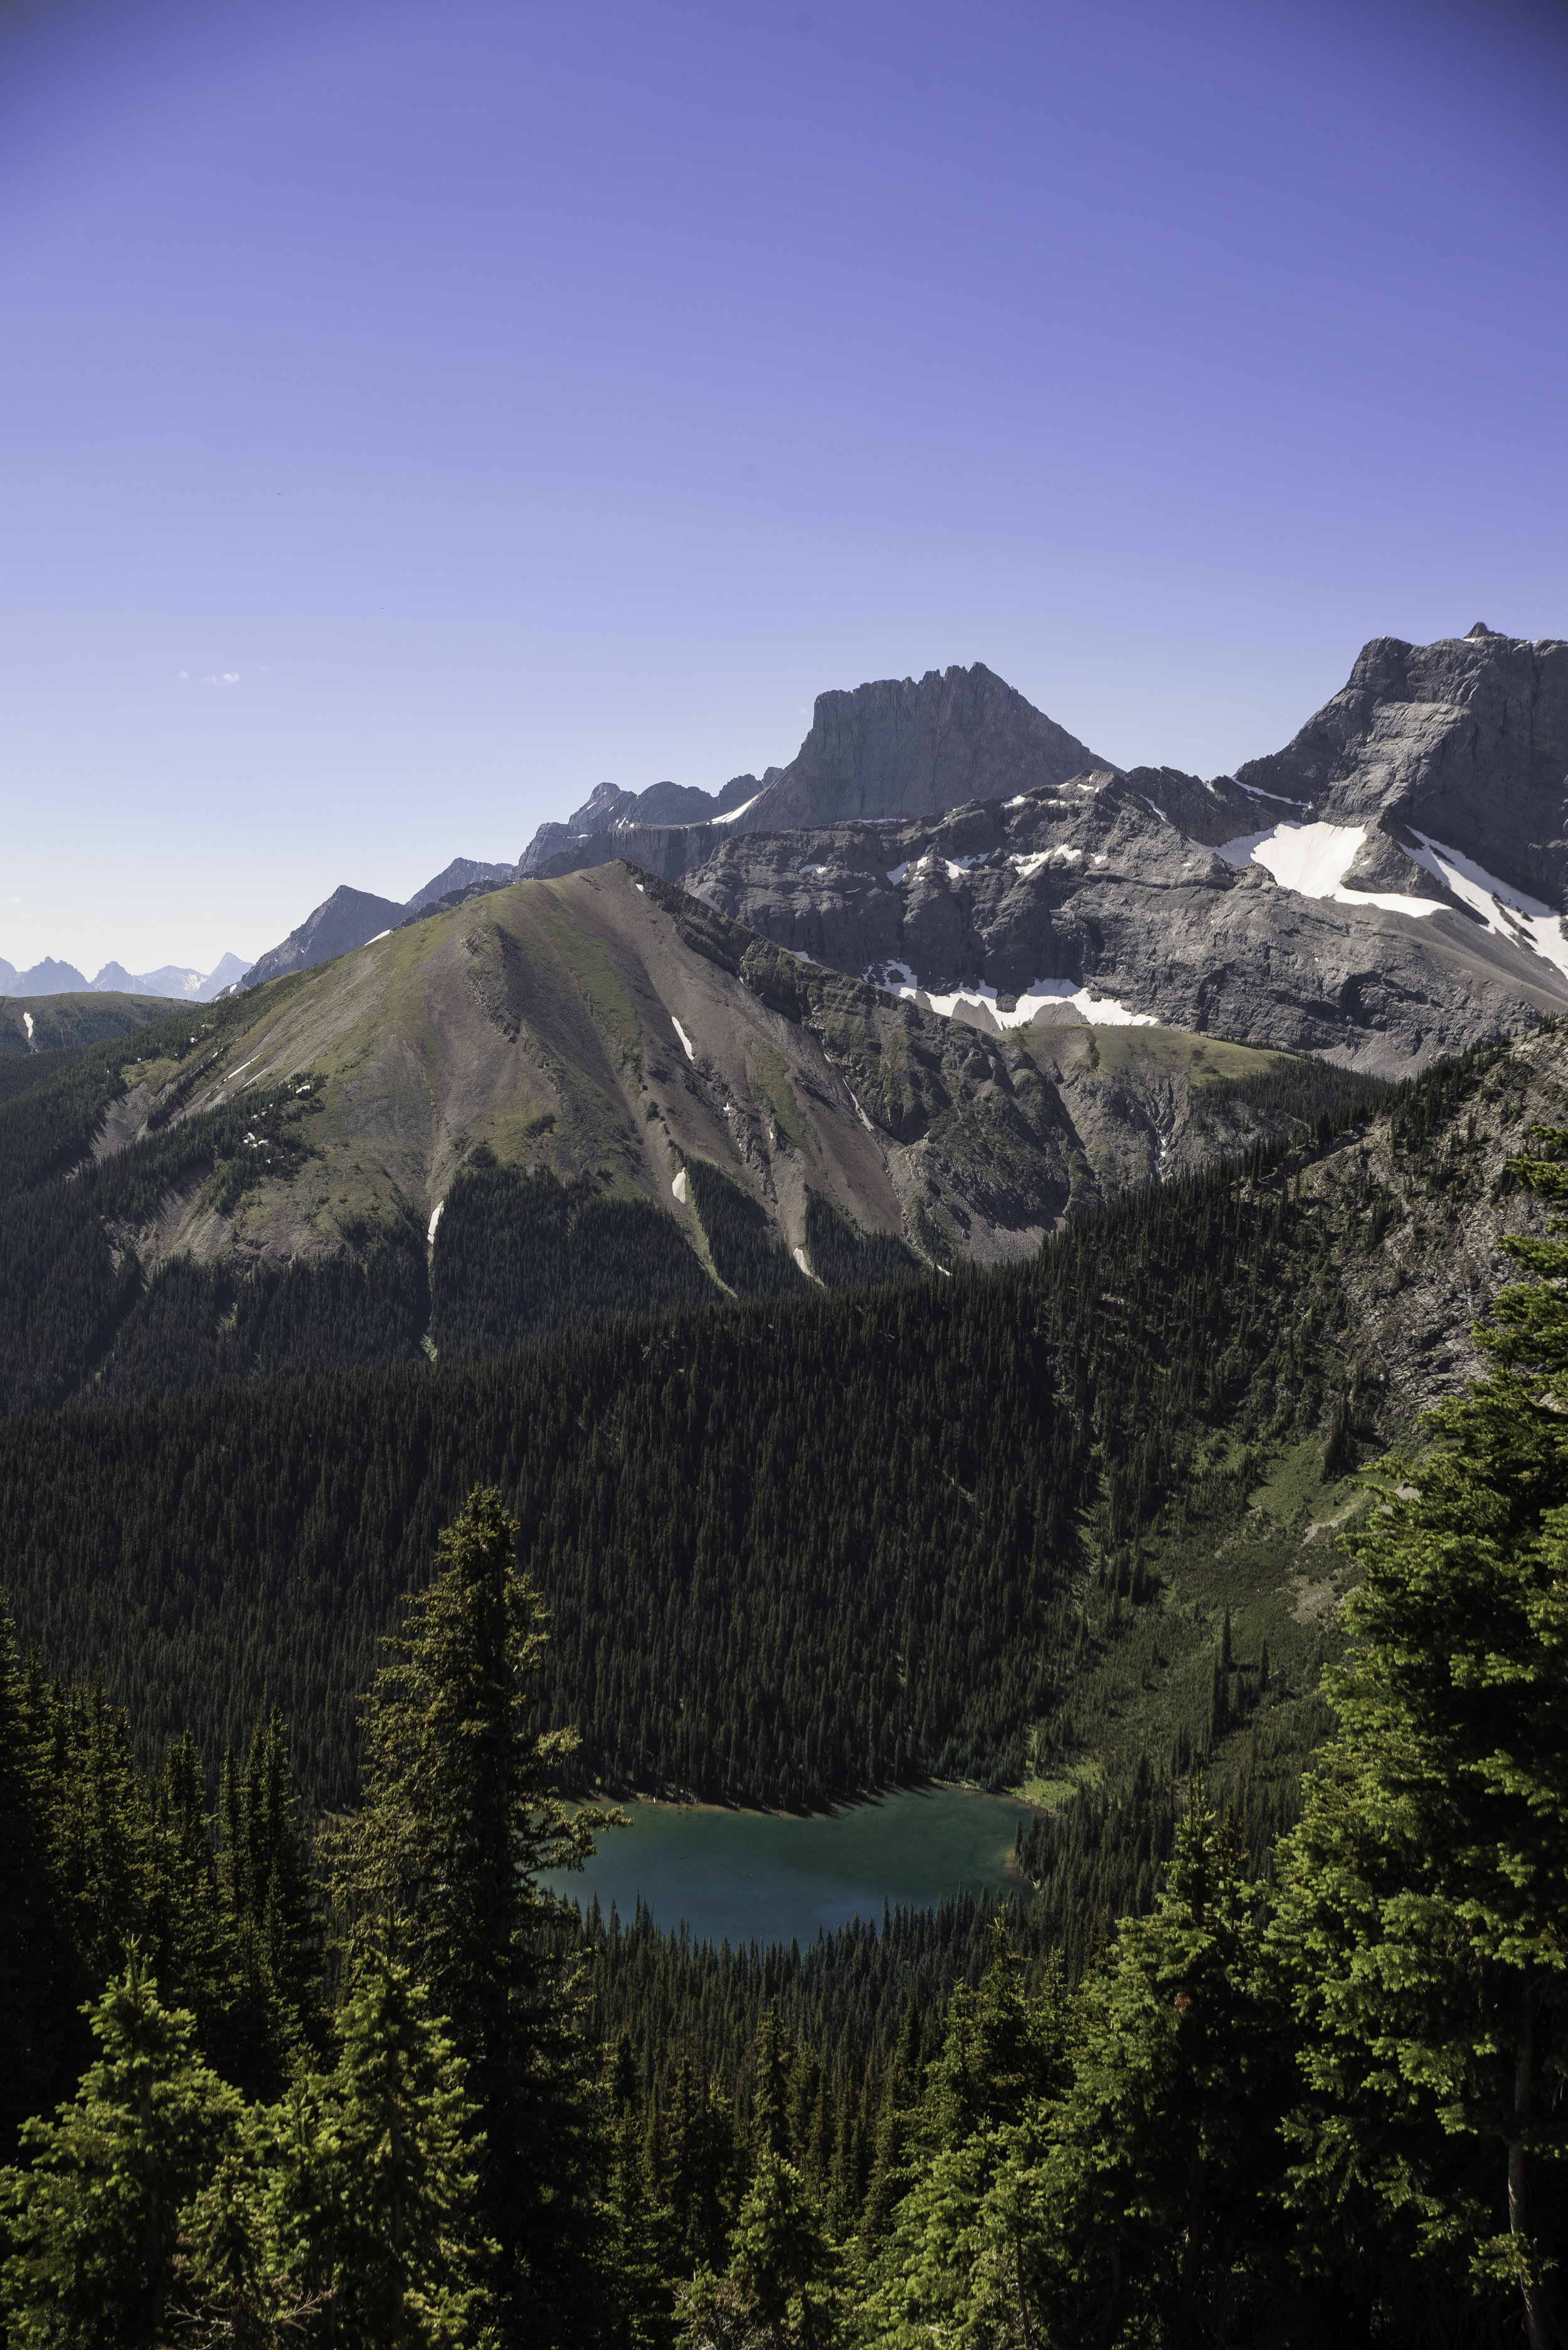
[[(1554, 1159), (1568, 1133), (1537, 1128)], [(1514, 1161), (1568, 1203), (1568, 1170)], [(1340, 1725), (1284, 1849), (1277, 1946), (1307, 2033), (1293, 2204), (1322, 2258), (1376, 2240), (1563, 2331), (1568, 2251), (1568, 1224), (1476, 1332), (1498, 1370), (1430, 1415), (1354, 1542)]]

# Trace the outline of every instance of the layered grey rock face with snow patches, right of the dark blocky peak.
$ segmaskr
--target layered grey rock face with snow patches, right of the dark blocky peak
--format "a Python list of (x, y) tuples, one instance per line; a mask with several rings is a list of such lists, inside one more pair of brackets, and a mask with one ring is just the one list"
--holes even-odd
[(1566, 644), (1380, 639), (1237, 778), (732, 837), (688, 888), (981, 1025), (1056, 1006), (1404, 1074), (1568, 1010), (1566, 804)]

